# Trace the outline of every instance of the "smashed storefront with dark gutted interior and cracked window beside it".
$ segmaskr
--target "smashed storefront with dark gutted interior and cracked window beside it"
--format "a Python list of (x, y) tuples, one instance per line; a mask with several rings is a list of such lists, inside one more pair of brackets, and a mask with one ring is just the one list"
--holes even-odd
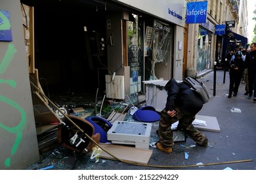
[[(98, 89), (124, 99), (143, 93), (143, 80), (182, 79), (186, 1), (21, 2), (34, 7), (35, 67), (58, 92)], [(51, 29), (37, 23), (44, 20)], [(63, 29), (67, 22), (71, 29)]]

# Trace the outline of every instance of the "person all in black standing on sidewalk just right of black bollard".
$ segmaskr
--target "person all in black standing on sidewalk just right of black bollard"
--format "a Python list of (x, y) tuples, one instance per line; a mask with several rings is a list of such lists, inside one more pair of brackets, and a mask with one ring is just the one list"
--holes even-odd
[(242, 80), (242, 76), (244, 73), (244, 61), (242, 59), (242, 52), (236, 52), (235, 59), (230, 61), (228, 64), (229, 70), (229, 91), (228, 91), (228, 98), (232, 97), (232, 92), (234, 92), (234, 97), (238, 95), (238, 88), (240, 86), (240, 82)]

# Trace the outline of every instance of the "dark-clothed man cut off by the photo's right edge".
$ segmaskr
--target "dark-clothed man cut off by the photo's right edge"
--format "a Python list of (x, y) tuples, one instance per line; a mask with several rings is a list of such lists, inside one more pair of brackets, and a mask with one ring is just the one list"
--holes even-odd
[(247, 68), (248, 72), (248, 99), (251, 99), (253, 95), (253, 101), (256, 101), (256, 42), (251, 43), (250, 52), (246, 54), (245, 68)]

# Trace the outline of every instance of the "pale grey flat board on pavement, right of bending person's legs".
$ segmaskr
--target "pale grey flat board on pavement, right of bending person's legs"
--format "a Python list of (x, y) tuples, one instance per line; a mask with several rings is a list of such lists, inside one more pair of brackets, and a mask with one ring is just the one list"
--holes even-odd
[(196, 115), (196, 119), (203, 120), (206, 122), (205, 126), (193, 124), (194, 127), (196, 127), (198, 130), (214, 131), (214, 132), (221, 131), (221, 128), (219, 127), (219, 123), (216, 117)]

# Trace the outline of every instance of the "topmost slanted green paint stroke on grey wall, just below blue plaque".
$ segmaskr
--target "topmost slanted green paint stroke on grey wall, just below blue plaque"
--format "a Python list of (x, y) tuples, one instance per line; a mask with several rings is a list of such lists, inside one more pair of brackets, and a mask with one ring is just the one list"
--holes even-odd
[(0, 74), (5, 73), (5, 70), (7, 69), (9, 64), (11, 63), (16, 51), (17, 50), (16, 50), (16, 48), (13, 44), (8, 45), (8, 50), (5, 53), (5, 56), (3, 57), (2, 62), (0, 63)]

